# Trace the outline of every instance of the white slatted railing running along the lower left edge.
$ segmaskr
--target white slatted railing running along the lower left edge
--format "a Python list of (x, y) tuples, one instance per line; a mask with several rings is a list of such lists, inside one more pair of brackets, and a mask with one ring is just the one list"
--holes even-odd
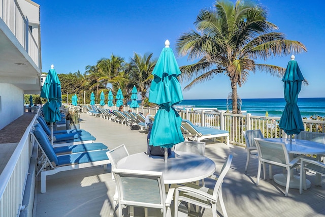
[(36, 118), (37, 114), (30, 122), (6, 167), (0, 174), (0, 217), (19, 215), (32, 153), (29, 132)]

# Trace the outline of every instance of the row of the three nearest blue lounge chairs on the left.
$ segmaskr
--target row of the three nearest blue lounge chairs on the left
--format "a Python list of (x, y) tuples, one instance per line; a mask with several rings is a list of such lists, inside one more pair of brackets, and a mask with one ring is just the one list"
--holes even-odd
[(62, 130), (53, 132), (53, 146), (50, 143), (50, 129), (42, 116), (30, 132), (32, 145), (39, 147), (37, 175), (41, 174), (41, 193), (46, 192), (46, 176), (61, 171), (107, 164), (110, 161), (103, 143), (94, 143), (95, 137), (84, 130)]

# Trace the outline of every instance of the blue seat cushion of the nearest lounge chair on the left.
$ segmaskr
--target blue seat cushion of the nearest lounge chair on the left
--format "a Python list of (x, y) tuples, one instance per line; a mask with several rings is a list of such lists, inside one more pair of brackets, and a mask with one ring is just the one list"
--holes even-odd
[(108, 160), (106, 152), (107, 150), (99, 150), (58, 156), (58, 166)]

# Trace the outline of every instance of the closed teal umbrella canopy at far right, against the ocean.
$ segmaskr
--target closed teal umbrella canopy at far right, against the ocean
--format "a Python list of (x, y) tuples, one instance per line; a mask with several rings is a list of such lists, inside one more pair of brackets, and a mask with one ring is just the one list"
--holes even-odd
[(292, 55), (282, 78), (286, 105), (279, 122), (279, 128), (287, 135), (297, 135), (304, 130), (300, 110), (297, 105), (303, 80), (305, 79), (295, 60), (295, 56)]

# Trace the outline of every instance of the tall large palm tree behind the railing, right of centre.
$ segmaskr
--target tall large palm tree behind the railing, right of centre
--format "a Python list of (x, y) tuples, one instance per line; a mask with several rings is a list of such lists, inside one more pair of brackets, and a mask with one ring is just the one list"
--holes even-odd
[(256, 59), (307, 51), (298, 42), (286, 40), (278, 27), (267, 20), (267, 12), (253, 1), (217, 0), (214, 8), (203, 9), (194, 22), (197, 28), (183, 34), (176, 44), (178, 54), (188, 55), (197, 63), (180, 67), (181, 81), (189, 81), (184, 89), (212, 79), (217, 74), (230, 78), (233, 92), (233, 113), (237, 113), (237, 85), (241, 87), (249, 72), (263, 71), (280, 77), (285, 69), (258, 64)]

